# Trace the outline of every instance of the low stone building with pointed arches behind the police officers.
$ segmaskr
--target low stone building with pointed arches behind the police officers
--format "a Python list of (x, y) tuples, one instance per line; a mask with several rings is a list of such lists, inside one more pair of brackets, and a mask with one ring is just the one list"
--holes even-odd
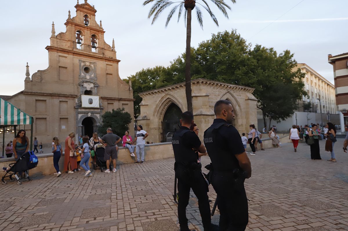
[[(214, 104), (227, 99), (234, 108), (233, 125), (240, 134), (249, 132), (249, 125), (257, 126), (254, 89), (205, 79), (191, 81), (192, 105), (195, 123), (199, 128), (199, 138), (203, 140), (204, 131), (212, 124)], [(149, 142), (171, 141), (174, 131), (179, 128), (180, 115), (187, 110), (185, 83), (179, 83), (156, 90), (142, 92), (140, 116), (137, 124), (149, 133)]]

